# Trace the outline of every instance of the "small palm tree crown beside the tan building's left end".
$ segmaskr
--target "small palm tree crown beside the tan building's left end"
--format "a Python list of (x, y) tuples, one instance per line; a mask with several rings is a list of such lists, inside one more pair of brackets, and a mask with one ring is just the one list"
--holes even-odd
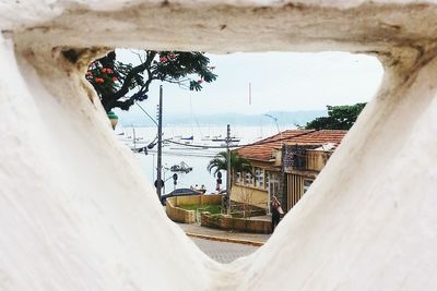
[[(210, 173), (213, 173), (214, 177), (217, 174), (218, 171), (227, 170), (227, 153), (221, 151), (215, 157), (210, 160), (206, 167)], [(252, 167), (250, 165), (250, 160), (244, 158), (238, 155), (237, 151), (231, 151), (231, 178), (234, 175), (235, 172), (252, 172)]]

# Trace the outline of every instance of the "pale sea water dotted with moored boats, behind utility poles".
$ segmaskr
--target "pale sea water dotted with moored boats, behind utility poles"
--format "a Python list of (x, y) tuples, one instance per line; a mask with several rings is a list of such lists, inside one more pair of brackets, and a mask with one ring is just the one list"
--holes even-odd
[[(291, 126), (290, 129), (293, 129)], [(281, 129), (285, 130), (285, 129)], [(115, 131), (119, 141), (129, 147), (146, 147), (153, 144), (157, 135), (156, 128), (119, 128)], [(259, 140), (277, 134), (276, 126), (231, 126), (231, 136), (240, 138), (239, 145), (246, 145)], [(133, 136), (135, 143), (133, 143)], [(169, 193), (174, 189), (201, 186), (204, 185), (206, 193), (214, 193), (216, 189), (216, 177), (210, 173), (206, 169), (208, 163), (220, 151), (225, 151), (224, 142), (212, 142), (212, 137), (225, 138), (226, 126), (165, 126), (163, 128), (163, 140), (174, 141), (184, 144), (188, 137), (193, 137), (191, 145), (203, 146), (203, 148), (194, 148), (182, 146), (179, 144), (168, 143), (163, 147), (163, 171), (162, 179), (165, 181), (163, 193)], [(206, 148), (208, 146), (222, 148)], [(139, 159), (141, 169), (144, 173), (144, 179), (150, 183), (156, 181), (156, 155), (155, 145), (152, 149), (134, 154)], [(176, 185), (174, 184), (173, 175), (175, 172), (170, 170), (174, 165), (187, 163), (192, 167), (192, 171), (188, 173), (177, 172)], [(226, 171), (222, 171), (222, 190), (226, 189)]]

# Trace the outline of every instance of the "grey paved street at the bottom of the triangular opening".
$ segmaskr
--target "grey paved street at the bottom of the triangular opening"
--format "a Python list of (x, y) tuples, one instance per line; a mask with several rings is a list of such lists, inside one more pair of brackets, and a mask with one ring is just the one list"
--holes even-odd
[(238, 257), (249, 255), (259, 246), (228, 243), (191, 238), (203, 253), (220, 263), (231, 263)]

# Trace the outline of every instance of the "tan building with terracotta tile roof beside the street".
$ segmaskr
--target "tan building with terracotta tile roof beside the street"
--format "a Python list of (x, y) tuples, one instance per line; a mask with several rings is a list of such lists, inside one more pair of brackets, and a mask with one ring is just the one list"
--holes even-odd
[(250, 160), (252, 171), (234, 174), (231, 199), (269, 208), (270, 197), (275, 195), (284, 210), (290, 210), (345, 134), (335, 130), (287, 130), (235, 149)]

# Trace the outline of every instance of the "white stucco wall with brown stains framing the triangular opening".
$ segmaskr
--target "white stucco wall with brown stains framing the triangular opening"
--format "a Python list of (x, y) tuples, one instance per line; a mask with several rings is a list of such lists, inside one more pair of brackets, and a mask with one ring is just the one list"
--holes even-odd
[[(436, 289), (436, 22), (435, 1), (0, 0), (0, 290)], [(271, 240), (220, 265), (83, 77), (101, 48), (144, 46), (358, 51), (386, 75)]]

